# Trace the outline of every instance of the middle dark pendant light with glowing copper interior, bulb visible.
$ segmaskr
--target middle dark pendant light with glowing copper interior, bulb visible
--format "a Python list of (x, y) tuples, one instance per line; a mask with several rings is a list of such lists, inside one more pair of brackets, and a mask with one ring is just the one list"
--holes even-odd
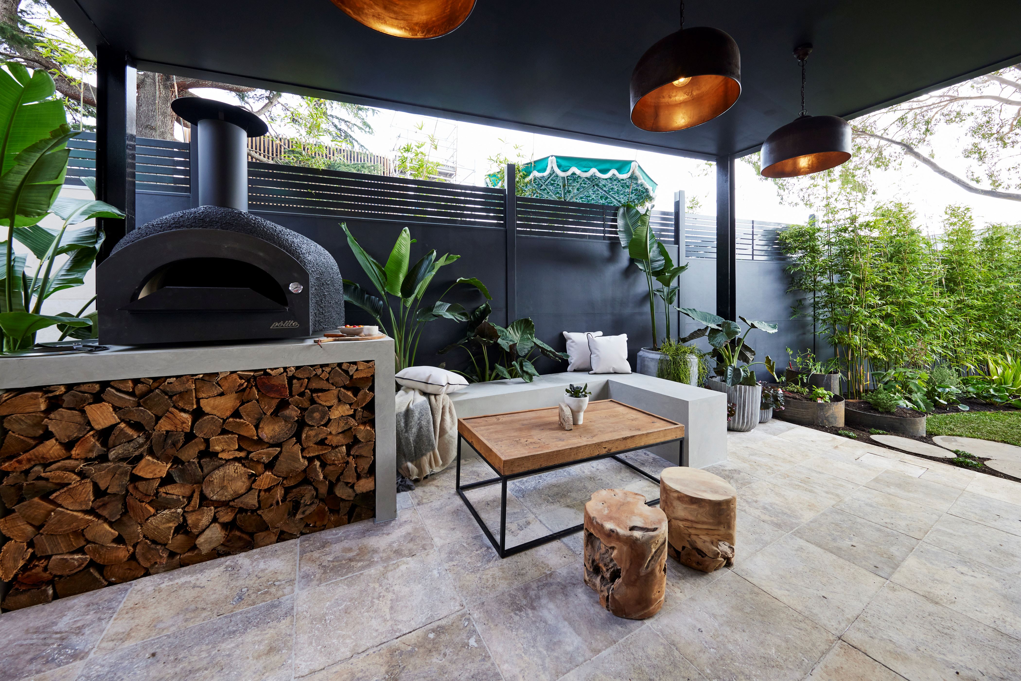
[(641, 56), (631, 72), (631, 123), (667, 133), (712, 120), (741, 94), (741, 53), (719, 29), (681, 27)]

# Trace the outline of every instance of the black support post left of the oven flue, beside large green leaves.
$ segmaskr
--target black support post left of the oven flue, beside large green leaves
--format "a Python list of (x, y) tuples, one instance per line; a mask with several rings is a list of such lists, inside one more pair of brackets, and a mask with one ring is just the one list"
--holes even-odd
[(97, 261), (135, 229), (134, 61), (124, 50), (100, 45), (96, 59), (96, 198), (124, 210), (125, 220), (102, 217), (106, 239)]

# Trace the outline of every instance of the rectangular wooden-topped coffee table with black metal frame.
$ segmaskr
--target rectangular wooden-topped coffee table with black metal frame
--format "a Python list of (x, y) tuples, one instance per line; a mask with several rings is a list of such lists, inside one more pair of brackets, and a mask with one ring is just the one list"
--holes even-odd
[[(684, 426), (669, 419), (642, 411), (615, 399), (590, 402), (585, 410), (585, 423), (574, 430), (561, 428), (558, 407), (490, 414), (457, 420), (457, 479), (456, 489), (472, 516), (489, 538), (501, 558), (528, 550), (548, 541), (573, 534), (584, 527), (576, 525), (545, 537), (533, 539), (517, 546), (506, 547), (507, 481), (545, 473), (568, 466), (600, 458), (615, 458), (637, 471), (655, 484), (660, 479), (645, 473), (619, 456), (653, 444), (680, 442), (684, 448)], [(461, 440), (472, 447), (496, 473), (495, 478), (460, 484)], [(678, 459), (681, 460), (681, 459)], [(496, 541), (489, 528), (479, 517), (465, 491), (500, 483), (500, 540)], [(646, 501), (648, 505), (659, 498)]]

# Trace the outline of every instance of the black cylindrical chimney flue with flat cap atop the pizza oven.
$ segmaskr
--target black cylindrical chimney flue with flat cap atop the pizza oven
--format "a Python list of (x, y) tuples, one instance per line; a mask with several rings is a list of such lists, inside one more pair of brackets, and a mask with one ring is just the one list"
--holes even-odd
[(248, 210), (248, 141), (269, 131), (239, 106), (201, 97), (181, 97), (171, 108), (198, 133), (198, 204)]

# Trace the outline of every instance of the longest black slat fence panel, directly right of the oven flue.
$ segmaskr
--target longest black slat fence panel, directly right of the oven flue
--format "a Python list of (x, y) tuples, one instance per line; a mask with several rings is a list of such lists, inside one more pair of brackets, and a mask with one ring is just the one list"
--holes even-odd
[(252, 210), (503, 227), (503, 192), (442, 182), (248, 163)]

